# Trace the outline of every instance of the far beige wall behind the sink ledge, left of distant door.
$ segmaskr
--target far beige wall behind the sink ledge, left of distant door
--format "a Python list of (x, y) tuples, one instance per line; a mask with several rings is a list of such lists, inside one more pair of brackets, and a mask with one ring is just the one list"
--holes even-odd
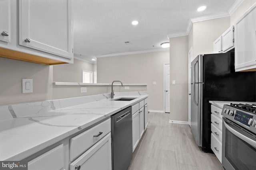
[(169, 60), (169, 51), (98, 58), (98, 83), (147, 84), (149, 109), (164, 111), (164, 63)]

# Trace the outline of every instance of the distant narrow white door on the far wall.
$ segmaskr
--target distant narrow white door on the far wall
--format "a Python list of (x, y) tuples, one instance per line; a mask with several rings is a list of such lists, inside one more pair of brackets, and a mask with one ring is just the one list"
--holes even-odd
[(164, 64), (165, 112), (170, 113), (170, 64)]

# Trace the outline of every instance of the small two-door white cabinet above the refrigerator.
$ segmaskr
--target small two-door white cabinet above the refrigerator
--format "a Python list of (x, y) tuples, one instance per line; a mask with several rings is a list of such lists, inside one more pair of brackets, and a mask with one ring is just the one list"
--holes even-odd
[(225, 53), (234, 48), (234, 26), (229, 27), (213, 42), (213, 53)]

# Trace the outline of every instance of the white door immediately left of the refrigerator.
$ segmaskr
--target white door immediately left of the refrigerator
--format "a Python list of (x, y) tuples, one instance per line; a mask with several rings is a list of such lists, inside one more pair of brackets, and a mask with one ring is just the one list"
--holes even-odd
[(192, 48), (188, 52), (188, 124), (191, 126), (191, 61), (193, 57)]

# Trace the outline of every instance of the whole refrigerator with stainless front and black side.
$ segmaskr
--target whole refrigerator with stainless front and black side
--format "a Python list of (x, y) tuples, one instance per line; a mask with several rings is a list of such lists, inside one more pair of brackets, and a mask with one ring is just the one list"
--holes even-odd
[(256, 73), (235, 72), (234, 53), (198, 55), (191, 63), (191, 132), (204, 152), (210, 149), (210, 100), (256, 100)]

